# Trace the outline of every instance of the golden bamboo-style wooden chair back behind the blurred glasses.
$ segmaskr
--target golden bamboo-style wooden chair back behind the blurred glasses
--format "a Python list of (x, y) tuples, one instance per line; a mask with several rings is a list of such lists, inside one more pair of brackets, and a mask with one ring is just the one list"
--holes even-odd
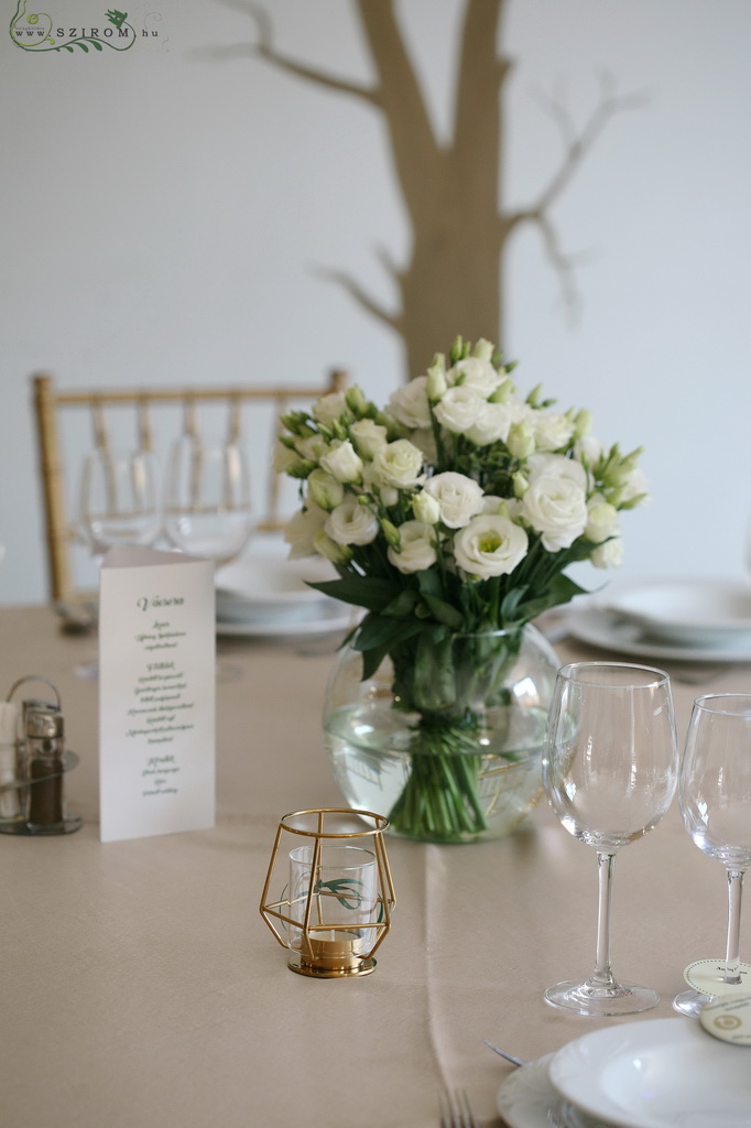
[[(77, 544), (80, 552), (82, 547), (74, 520), (70, 517), (73, 512), (73, 478), (79, 470), (78, 464), (95, 447), (105, 450), (111, 448), (114, 431), (112, 417), (117, 408), (126, 408), (129, 423), (135, 428), (135, 439), (130, 446), (157, 452), (159, 439), (170, 421), (173, 423), (170, 438), (174, 439), (182, 433), (186, 417), (194, 417), (203, 409), (206, 414), (224, 411), (230, 413), (230, 429), (237, 432), (246, 422), (245, 407), (253, 408), (251, 442), (246, 441), (246, 447), (251, 451), (255, 475), (259, 479), (263, 478), (263, 499), (257, 506), (260, 513), (257, 529), (273, 531), (281, 529), (285, 518), (290, 515), (289, 512), (281, 512), (283, 479), (272, 468), (272, 450), (280, 417), (294, 406), (303, 404), (309, 406), (318, 396), (343, 390), (346, 377), (341, 370), (334, 370), (319, 387), (257, 388), (239, 386), (63, 390), (56, 387), (48, 374), (36, 374), (32, 381), (44, 506), (48, 596), (53, 602), (76, 602), (82, 598), (82, 584), (77, 574), (81, 567), (77, 570), (73, 554)], [(157, 408), (160, 411), (157, 412)], [(157, 415), (165, 417), (157, 418)], [(73, 420), (73, 430), (67, 433), (67, 424), (73, 416), (77, 416)], [(123, 420), (115, 422), (122, 430)], [(77, 465), (71, 466), (74, 460)]]

